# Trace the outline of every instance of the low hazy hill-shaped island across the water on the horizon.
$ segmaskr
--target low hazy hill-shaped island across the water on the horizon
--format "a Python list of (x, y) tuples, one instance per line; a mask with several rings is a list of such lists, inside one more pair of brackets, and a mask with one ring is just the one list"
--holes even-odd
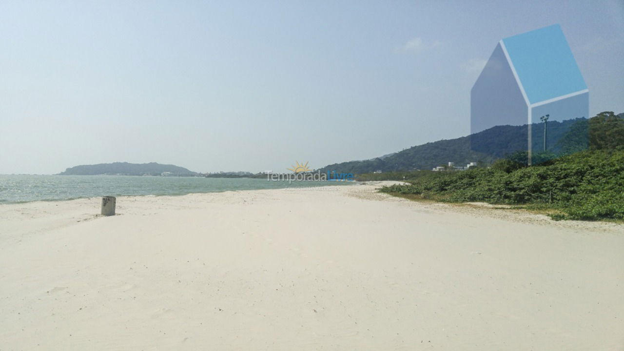
[(162, 175), (176, 177), (195, 177), (197, 172), (172, 164), (156, 162), (135, 164), (128, 162), (113, 162), (102, 164), (85, 164), (71, 167), (60, 175)]

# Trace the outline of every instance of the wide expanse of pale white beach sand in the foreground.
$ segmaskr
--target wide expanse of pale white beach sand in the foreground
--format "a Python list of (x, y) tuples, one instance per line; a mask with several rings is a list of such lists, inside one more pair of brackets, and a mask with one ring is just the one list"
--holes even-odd
[(623, 350), (622, 225), (338, 190), (0, 205), (1, 350)]

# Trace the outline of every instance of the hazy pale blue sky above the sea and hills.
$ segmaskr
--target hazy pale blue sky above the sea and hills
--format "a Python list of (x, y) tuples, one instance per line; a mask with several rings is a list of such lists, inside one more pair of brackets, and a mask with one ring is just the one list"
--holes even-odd
[(502, 37), (559, 23), (624, 112), (624, 1), (0, 1), (0, 174), (286, 171), (469, 134)]

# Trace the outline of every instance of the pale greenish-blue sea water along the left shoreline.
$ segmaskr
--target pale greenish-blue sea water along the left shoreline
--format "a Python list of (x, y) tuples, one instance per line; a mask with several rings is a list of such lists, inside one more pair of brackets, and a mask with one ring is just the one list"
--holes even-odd
[(351, 182), (129, 175), (0, 175), (0, 204), (97, 196), (186, 195), (193, 192), (351, 185)]

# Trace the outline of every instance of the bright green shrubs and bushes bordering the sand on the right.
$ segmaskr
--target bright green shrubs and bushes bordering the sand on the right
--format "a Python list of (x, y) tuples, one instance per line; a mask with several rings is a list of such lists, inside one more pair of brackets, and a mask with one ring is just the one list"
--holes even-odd
[(553, 219), (622, 220), (624, 119), (602, 112), (587, 124), (587, 151), (537, 166), (526, 166), (512, 155), (491, 167), (463, 172), (396, 174), (411, 184), (384, 187), (382, 191), (446, 202), (523, 204), (549, 210)]

